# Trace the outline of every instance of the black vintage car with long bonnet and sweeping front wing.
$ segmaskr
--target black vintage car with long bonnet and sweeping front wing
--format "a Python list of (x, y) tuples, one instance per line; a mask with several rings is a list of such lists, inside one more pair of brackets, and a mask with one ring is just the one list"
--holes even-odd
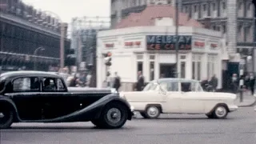
[(0, 75), (0, 129), (13, 122), (92, 122), (120, 128), (131, 120), (128, 102), (111, 89), (67, 88), (57, 74), (17, 71)]

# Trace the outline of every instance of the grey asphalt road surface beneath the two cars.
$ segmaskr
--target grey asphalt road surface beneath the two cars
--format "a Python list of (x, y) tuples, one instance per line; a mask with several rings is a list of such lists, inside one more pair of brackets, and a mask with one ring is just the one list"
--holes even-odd
[(226, 119), (205, 115), (141, 116), (122, 129), (99, 130), (90, 122), (19, 123), (1, 130), (1, 144), (255, 144), (256, 112), (239, 108)]

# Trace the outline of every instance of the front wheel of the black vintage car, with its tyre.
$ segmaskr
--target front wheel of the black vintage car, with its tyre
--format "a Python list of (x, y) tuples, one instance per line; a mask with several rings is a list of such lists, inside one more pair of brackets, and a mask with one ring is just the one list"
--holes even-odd
[(117, 129), (122, 127), (128, 118), (128, 110), (121, 103), (112, 102), (105, 106), (96, 126), (105, 129)]

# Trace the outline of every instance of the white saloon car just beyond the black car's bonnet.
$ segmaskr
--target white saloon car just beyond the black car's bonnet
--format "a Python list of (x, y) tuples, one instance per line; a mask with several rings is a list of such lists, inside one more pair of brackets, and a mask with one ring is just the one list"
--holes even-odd
[(182, 78), (152, 81), (142, 91), (120, 92), (144, 118), (160, 114), (206, 114), (208, 118), (226, 118), (238, 110), (236, 94), (205, 92), (200, 82)]

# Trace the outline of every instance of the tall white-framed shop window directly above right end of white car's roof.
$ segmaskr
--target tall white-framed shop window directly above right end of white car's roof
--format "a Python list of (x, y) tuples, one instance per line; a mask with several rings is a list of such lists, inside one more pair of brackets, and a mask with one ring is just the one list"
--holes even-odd
[(192, 59), (192, 78), (201, 80), (201, 65), (202, 55), (194, 54)]

